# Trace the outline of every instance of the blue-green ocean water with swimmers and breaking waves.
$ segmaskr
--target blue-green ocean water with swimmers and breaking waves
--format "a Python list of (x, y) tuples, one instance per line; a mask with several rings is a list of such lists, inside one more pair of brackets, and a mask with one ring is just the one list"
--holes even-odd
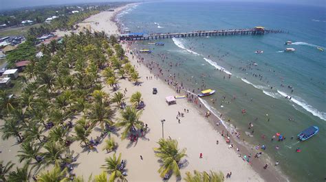
[[(151, 49), (146, 59), (175, 74), (184, 88), (195, 93), (217, 90), (203, 98), (204, 105), (216, 116), (222, 114), (226, 127), (236, 127), (249, 147), (265, 145), (263, 153), (270, 162), (279, 161), (277, 168), (290, 181), (325, 181), (326, 54), (317, 49), (326, 48), (325, 12), (325, 8), (276, 3), (155, 2), (135, 5), (117, 18), (131, 32), (148, 34), (256, 26), (283, 30), (263, 36), (157, 40), (164, 42), (163, 47), (148, 44), (153, 40), (139, 41), (138, 48)], [(293, 43), (285, 45), (287, 40)], [(296, 51), (284, 52), (285, 48)], [(296, 140), (312, 125), (319, 127), (316, 136)], [(271, 141), (276, 133), (286, 139)]]

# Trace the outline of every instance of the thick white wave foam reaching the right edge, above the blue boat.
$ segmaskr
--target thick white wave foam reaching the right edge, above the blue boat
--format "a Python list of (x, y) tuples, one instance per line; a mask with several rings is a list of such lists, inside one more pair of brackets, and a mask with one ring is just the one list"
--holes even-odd
[[(287, 95), (285, 92), (281, 92), (279, 90), (277, 90), (277, 92), (279, 92), (279, 94), (281, 94), (282, 96), (286, 97), (290, 97), (289, 95)], [(312, 107), (312, 105), (309, 105), (305, 100), (301, 99), (298, 96), (291, 96), (292, 98), (289, 99), (289, 101), (292, 101), (294, 103), (296, 103), (297, 105), (300, 105), (301, 107), (303, 107), (303, 109), (305, 109), (307, 112), (311, 113), (314, 116), (317, 116), (318, 118), (322, 119), (322, 120), (326, 120), (326, 113), (325, 112), (320, 112), (318, 111), (316, 108)], [(296, 109), (296, 107), (294, 107)]]

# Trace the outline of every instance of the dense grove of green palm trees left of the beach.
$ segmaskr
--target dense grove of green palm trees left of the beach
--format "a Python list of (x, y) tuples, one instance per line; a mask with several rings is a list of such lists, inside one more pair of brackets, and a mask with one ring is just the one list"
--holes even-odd
[[(111, 109), (113, 101), (109, 94), (102, 91), (99, 79), (102, 70), (99, 66), (107, 69), (105, 65), (113, 65), (112, 60), (115, 64), (119, 62), (119, 68), (127, 70), (126, 77), (130, 77), (131, 67), (126, 57), (111, 59), (116, 55), (107, 55), (107, 49), (113, 49), (114, 45), (104, 33), (91, 34), (89, 31), (65, 36), (63, 44), (52, 42), (42, 45), (39, 50), (44, 56), (31, 57), (31, 63), (22, 73), (28, 79), (20, 77), (17, 80), (20, 85), (16, 83), (14, 88), (0, 91), (0, 118), (4, 120), (0, 128), (2, 138), (17, 138), (21, 146), (17, 157), (25, 164), (23, 168), (10, 172), (8, 169), (12, 168), (12, 164), (7, 164), (6, 168), (1, 168), (1, 180), (31, 180), (32, 175), (39, 171), (42, 173), (39, 181), (66, 179), (69, 174), (64, 172), (64, 168), (59, 172), (56, 164), (72, 163), (61, 157), (69, 154), (69, 145), (80, 142), (81, 147), (92, 151), (96, 146), (89, 141), (89, 134), (94, 128), (100, 129), (99, 137), (102, 137), (115, 126), (112, 120), (116, 110)], [(25, 43), (17, 52), (11, 53), (10, 59), (14, 62), (12, 57), (28, 57), (28, 50), (36, 51), (32, 44)], [(118, 78), (118, 68), (113, 67), (112, 71), (111, 76)], [(13, 92), (16, 96), (10, 95)], [(117, 95), (115, 102), (119, 103), (123, 96)], [(131, 110), (131, 114), (135, 114), (135, 110)], [(77, 115), (82, 118), (74, 119)], [(138, 127), (139, 116), (140, 113), (135, 114), (136, 120), (128, 120), (127, 128)], [(114, 140), (107, 140), (105, 150), (113, 151), (116, 146)], [(113, 159), (115, 162), (119, 160), (120, 157)], [(48, 166), (54, 169), (43, 173)], [(110, 180), (113, 177), (124, 179), (120, 168), (113, 171), (107, 166), (107, 171), (111, 174)]]

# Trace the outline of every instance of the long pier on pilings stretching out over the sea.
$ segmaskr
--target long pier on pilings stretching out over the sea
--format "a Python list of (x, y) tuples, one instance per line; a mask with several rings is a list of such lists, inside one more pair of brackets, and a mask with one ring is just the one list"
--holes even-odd
[(166, 33), (166, 34), (145, 34), (130, 33), (121, 34), (120, 40), (157, 40), (165, 38), (186, 38), (186, 37), (204, 37), (204, 36), (244, 36), (244, 35), (263, 35), (269, 33), (283, 33), (282, 30), (265, 29), (264, 27), (254, 27), (253, 29), (227, 29), (213, 31), (192, 31), (186, 33)]

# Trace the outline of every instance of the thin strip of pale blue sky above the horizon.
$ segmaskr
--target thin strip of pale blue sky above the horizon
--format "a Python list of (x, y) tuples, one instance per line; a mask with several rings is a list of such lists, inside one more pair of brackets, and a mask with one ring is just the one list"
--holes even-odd
[[(123, 0), (113, 0), (123, 1)], [(10, 10), (13, 8), (24, 8), (39, 5), (61, 5), (67, 3), (94, 3), (94, 2), (113, 2), (112, 0), (0, 0), (0, 10)], [(137, 1), (137, 0), (128, 0)], [(143, 1), (143, 0), (138, 0)], [(162, 0), (144, 0), (162, 1)], [(163, 1), (201, 1), (201, 0), (163, 0)], [(293, 3), (301, 5), (326, 6), (326, 0), (204, 0), (204, 1), (255, 1), (255, 2), (274, 2), (274, 3)]]

